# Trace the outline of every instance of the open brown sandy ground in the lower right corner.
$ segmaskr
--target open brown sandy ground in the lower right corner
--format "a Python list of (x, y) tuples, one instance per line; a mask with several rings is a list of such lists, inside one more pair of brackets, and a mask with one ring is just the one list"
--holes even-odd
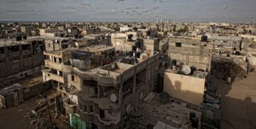
[(256, 70), (232, 85), (216, 79), (221, 93), (221, 128), (256, 129)]

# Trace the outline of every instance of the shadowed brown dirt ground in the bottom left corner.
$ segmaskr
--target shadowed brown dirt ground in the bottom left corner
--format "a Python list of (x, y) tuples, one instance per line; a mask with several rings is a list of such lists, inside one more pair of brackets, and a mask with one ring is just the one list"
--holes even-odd
[[(0, 129), (34, 129), (36, 126), (35, 124), (30, 124), (33, 118), (30, 118), (29, 114), (36, 106), (36, 101), (39, 99), (41, 99), (39, 96), (35, 96), (19, 106), (9, 109), (0, 108)], [(56, 123), (60, 129), (70, 128), (70, 125), (62, 122), (61, 119), (54, 119), (54, 114), (54, 109), (52, 109), (51, 116), (53, 122)], [(45, 115), (45, 117), (48, 120), (48, 115)]]

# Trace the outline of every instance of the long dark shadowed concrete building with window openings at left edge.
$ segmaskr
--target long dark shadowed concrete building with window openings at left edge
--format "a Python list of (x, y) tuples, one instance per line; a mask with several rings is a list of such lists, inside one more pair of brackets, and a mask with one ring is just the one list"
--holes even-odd
[(37, 38), (17, 37), (0, 40), (0, 78), (11, 81), (40, 71), (44, 42)]

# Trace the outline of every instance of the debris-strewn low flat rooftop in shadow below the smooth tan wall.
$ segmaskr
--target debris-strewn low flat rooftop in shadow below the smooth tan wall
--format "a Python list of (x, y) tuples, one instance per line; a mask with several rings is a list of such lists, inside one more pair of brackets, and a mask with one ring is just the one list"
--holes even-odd
[(189, 113), (195, 112), (196, 117), (199, 120), (198, 129), (200, 128), (202, 114), (199, 107), (177, 100), (176, 98), (169, 98), (167, 103), (162, 103), (159, 94), (153, 94), (155, 96), (149, 100), (149, 102), (143, 101), (140, 103), (138, 111), (134, 112), (134, 115), (142, 115), (142, 118), (145, 118), (139, 119), (139, 122), (142, 120), (142, 123), (156, 125), (158, 121), (161, 121), (175, 128), (190, 129), (192, 127), (190, 126)]

